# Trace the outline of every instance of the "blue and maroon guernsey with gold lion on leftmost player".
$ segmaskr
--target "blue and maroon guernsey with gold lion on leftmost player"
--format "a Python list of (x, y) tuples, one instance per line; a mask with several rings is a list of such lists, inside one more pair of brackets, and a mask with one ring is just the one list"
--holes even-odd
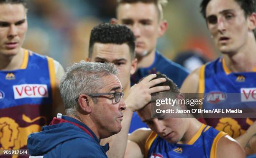
[(54, 60), (29, 50), (24, 54), (20, 69), (0, 71), (0, 148), (5, 150), (26, 149), (28, 135), (51, 121)]

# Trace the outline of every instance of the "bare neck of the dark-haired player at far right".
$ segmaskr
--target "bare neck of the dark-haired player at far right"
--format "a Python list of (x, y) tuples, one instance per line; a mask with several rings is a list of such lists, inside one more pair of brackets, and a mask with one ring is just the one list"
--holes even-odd
[(231, 72), (251, 72), (256, 68), (256, 44), (255, 39), (248, 40), (238, 52), (232, 55), (225, 54), (225, 66)]

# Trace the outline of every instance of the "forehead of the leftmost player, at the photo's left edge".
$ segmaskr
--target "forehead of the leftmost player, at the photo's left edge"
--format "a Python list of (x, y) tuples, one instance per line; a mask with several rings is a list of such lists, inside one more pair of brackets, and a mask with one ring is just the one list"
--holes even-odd
[(27, 9), (22, 4), (0, 4), (0, 21), (3, 22), (17, 22), (26, 19)]

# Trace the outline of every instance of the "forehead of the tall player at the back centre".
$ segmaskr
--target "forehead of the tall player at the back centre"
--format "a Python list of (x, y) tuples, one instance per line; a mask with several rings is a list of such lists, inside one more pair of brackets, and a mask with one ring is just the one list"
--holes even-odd
[(154, 20), (158, 18), (158, 10), (154, 3), (120, 3), (117, 8), (117, 18), (118, 20)]

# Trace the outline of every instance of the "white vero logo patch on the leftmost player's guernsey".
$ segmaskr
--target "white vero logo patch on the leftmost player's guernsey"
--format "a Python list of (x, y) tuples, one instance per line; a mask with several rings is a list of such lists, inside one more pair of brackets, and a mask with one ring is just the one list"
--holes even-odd
[(13, 93), (15, 99), (48, 97), (47, 85), (42, 84), (13, 85)]

